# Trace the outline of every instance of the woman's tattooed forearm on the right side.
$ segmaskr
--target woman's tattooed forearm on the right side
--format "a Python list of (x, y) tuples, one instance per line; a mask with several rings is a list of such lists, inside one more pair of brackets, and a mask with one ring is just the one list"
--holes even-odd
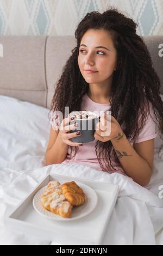
[(146, 186), (151, 178), (152, 169), (149, 164), (136, 153), (122, 130), (118, 132), (116, 138), (111, 139), (111, 143), (124, 172), (141, 186)]

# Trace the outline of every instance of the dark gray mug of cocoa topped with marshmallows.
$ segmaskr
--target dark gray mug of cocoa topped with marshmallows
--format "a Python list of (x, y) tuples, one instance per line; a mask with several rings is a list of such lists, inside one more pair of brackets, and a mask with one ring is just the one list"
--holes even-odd
[[(78, 119), (78, 118), (74, 118), (73, 121), (71, 121), (69, 123), (69, 125), (75, 124), (77, 123), (78, 126), (71, 130), (70, 133), (72, 132), (77, 132), (80, 131), (81, 135), (78, 137), (74, 137), (71, 138), (72, 142), (78, 142), (78, 143), (87, 143), (87, 142), (91, 142), (95, 139), (94, 137), (94, 133), (95, 133), (95, 129), (96, 129), (96, 124), (99, 122), (100, 117), (97, 117), (97, 115), (91, 111), (76, 111), (78, 113), (91, 113), (94, 118), (92, 119)], [(75, 111), (70, 113), (70, 116), (73, 116), (74, 113), (76, 113)]]

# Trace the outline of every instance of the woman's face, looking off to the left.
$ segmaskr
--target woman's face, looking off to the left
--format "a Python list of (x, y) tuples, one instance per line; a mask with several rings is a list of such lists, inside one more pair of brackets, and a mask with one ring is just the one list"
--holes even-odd
[[(103, 29), (86, 31), (80, 43), (78, 56), (79, 69), (85, 81), (89, 84), (107, 84), (116, 69), (116, 63), (117, 52), (110, 34)], [(88, 74), (86, 69), (97, 72)]]

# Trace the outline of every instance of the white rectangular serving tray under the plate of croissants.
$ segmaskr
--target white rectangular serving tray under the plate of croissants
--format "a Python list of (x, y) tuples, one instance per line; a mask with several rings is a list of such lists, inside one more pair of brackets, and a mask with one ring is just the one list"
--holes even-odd
[[(61, 184), (74, 180), (90, 186), (98, 196), (96, 208), (89, 215), (70, 222), (54, 221), (39, 215), (34, 210), (33, 198), (51, 180), (58, 180)], [(14, 230), (51, 240), (59, 245), (102, 245), (117, 196), (118, 186), (114, 184), (48, 174), (6, 219), (6, 224)]]

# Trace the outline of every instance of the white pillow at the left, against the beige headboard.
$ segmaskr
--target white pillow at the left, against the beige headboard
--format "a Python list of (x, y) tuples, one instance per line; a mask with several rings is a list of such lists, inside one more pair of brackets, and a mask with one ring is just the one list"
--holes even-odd
[(40, 168), (49, 137), (49, 109), (0, 96), (0, 169)]

